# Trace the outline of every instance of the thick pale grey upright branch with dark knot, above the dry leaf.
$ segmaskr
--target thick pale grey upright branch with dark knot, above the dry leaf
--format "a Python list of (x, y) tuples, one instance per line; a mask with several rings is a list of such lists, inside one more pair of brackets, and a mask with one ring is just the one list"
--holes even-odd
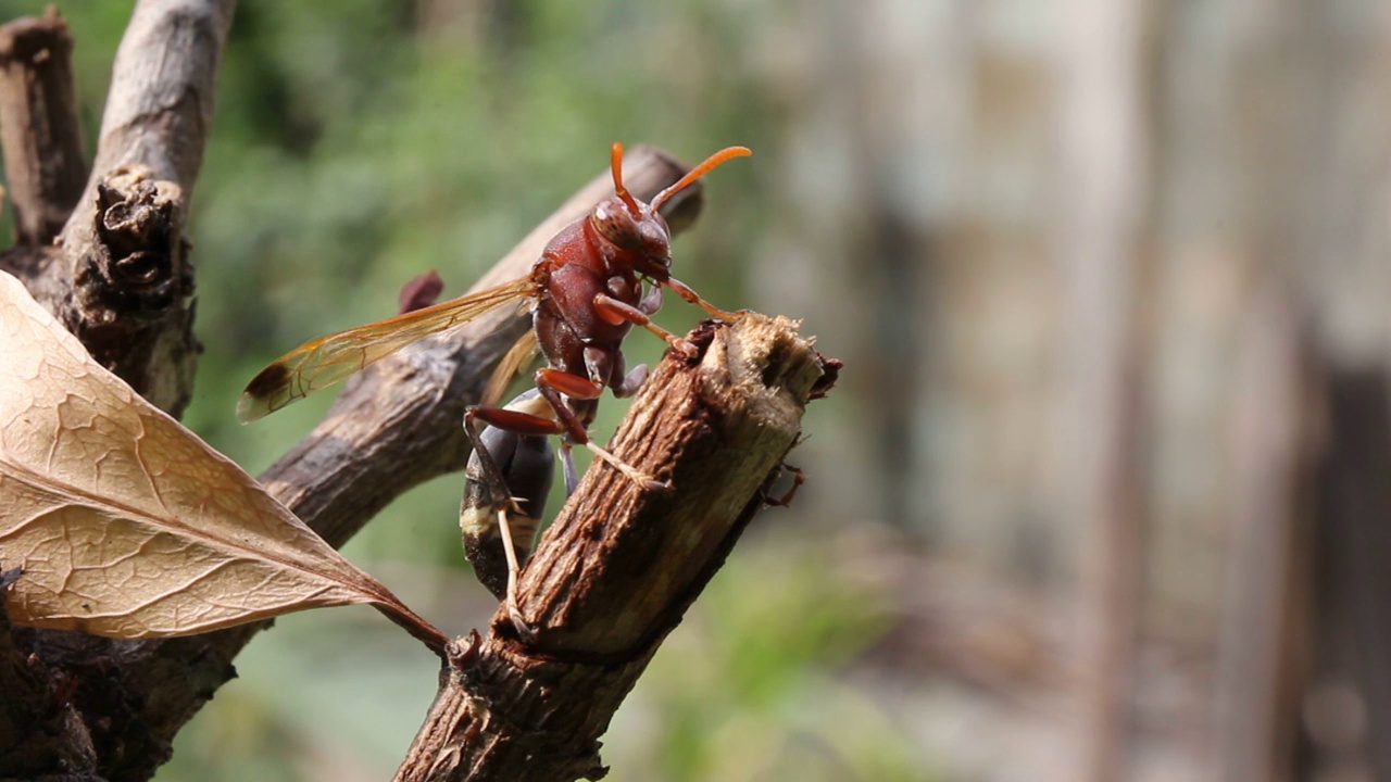
[[(192, 394), (184, 241), (234, 0), (140, 0), (121, 40), (92, 175), (43, 263), (7, 257), (88, 351), (154, 405)], [(21, 154), (6, 136), (7, 159)]]

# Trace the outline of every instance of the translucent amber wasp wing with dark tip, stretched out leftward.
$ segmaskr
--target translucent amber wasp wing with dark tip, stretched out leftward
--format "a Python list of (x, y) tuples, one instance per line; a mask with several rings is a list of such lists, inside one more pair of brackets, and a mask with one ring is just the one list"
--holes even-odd
[(434, 306), (320, 337), (285, 353), (246, 384), (236, 417), (253, 422), (346, 378), (421, 337), (459, 326), (508, 302), (534, 296), (530, 276)]

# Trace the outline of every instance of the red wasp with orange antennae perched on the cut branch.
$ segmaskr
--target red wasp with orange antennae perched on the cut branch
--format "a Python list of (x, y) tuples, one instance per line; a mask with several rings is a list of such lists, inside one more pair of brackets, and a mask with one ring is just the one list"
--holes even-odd
[[(508, 408), (476, 405), (469, 408), (465, 417), (465, 430), (473, 441), (479, 462), (477, 474), (483, 477), (483, 487), (488, 493), (485, 504), (497, 512), (502, 543), (508, 551), (508, 607), (513, 622), (524, 632), (515, 609), (517, 564), (508, 526), (508, 512), (520, 509), (512, 500), (508, 476), (491, 458), (487, 442), (474, 430), (474, 422), (481, 420), (501, 433), (509, 433), (512, 437), (506, 441), (510, 444), (529, 437), (561, 436), (568, 490), (573, 490), (576, 483), (570, 445), (590, 448), (643, 486), (661, 486), (591, 442), (588, 426), (605, 388), (611, 388), (615, 397), (629, 397), (647, 378), (645, 366), (632, 372), (625, 367), (622, 344), (633, 326), (647, 328), (679, 351), (691, 349), (684, 340), (650, 319), (662, 305), (662, 285), (714, 317), (734, 317), (672, 277), (670, 228), (658, 209), (711, 168), (746, 154), (750, 152), (743, 146), (722, 149), (657, 193), (651, 203), (643, 203), (623, 186), (623, 145), (615, 142), (611, 149), (615, 196), (562, 228), (541, 252), (530, 274), (495, 288), (306, 342), (252, 378), (238, 402), (238, 417), (243, 423), (256, 420), (344, 380), (428, 334), (459, 326), (509, 302), (527, 302), (533, 312), (533, 328), (509, 352), (504, 365), (515, 369), (538, 346), (545, 366), (536, 372), (536, 392), (545, 404), (537, 405), (533, 401), (517, 405), (513, 401)], [(650, 285), (645, 294), (644, 281)], [(519, 406), (524, 409), (517, 409)], [(519, 474), (513, 474), (513, 479), (527, 483), (527, 493), (540, 483), (531, 472), (524, 479)], [(467, 508), (466, 495), (465, 509)], [(534, 526), (531, 529), (534, 532)]]

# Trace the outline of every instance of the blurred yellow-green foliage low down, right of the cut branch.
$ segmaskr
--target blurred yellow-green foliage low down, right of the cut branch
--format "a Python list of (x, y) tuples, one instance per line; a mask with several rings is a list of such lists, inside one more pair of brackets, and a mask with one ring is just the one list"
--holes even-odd
[(839, 679), (886, 629), (881, 589), (823, 543), (741, 543), (619, 711), (612, 779), (922, 779), (900, 729)]

